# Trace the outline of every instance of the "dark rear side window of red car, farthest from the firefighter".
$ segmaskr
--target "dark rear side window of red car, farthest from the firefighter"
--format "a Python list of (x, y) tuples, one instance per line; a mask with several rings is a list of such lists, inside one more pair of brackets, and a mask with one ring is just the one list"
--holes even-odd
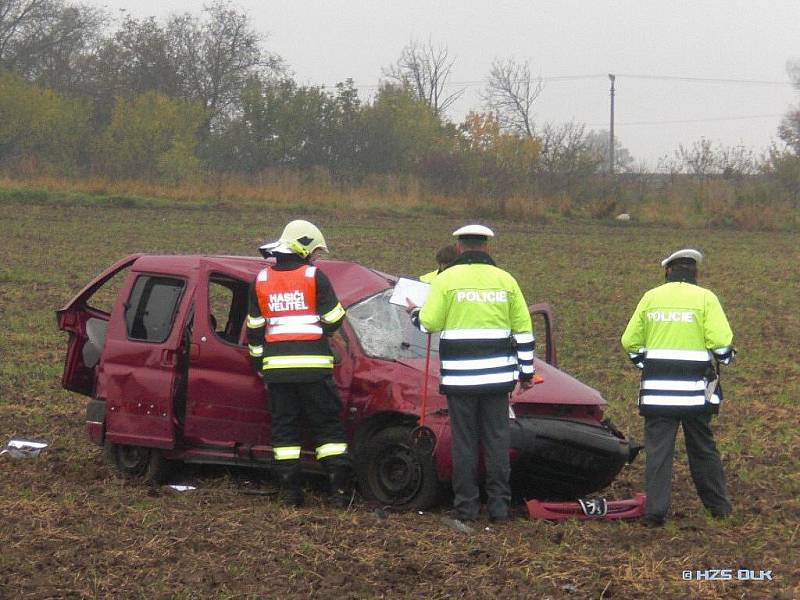
[(125, 304), (128, 337), (163, 342), (169, 337), (184, 282), (174, 277), (139, 275)]

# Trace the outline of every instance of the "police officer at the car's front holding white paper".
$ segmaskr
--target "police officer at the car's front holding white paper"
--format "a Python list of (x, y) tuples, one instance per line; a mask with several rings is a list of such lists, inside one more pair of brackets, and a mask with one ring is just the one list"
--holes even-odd
[(486, 467), (487, 511), (507, 521), (509, 393), (517, 381), (533, 385), (531, 317), (516, 280), (487, 253), (494, 233), (483, 225), (453, 232), (458, 258), (437, 275), (422, 309), (409, 305), (414, 324), (441, 332), (439, 390), (447, 396), (453, 462), (453, 505), (458, 519), (480, 512), (478, 451)]

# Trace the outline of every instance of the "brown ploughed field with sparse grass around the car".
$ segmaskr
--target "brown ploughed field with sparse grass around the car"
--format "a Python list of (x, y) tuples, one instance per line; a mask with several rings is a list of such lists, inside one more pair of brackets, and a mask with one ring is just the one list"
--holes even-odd
[[(532, 521), (520, 506), (510, 523), (483, 520), (464, 532), (444, 522), (446, 506), (401, 514), (356, 498), (350, 509), (334, 509), (313, 481), (307, 506), (286, 508), (256, 471), (187, 468), (175, 479), (196, 486), (187, 492), (118, 476), (85, 434), (87, 399), (60, 387), (65, 339), (53, 311), (130, 252), (252, 250), (255, 240), (236, 232), (261, 213), (81, 207), (54, 219), (54, 211), (0, 205), (0, 445), (13, 437), (50, 444), (37, 458), (0, 456), (0, 598), (800, 598), (800, 325), (796, 278), (786, 284), (799, 258), (792, 236), (543, 225), (530, 262), (530, 232), (499, 223), (499, 254), (526, 294), (562, 299), (562, 368), (602, 390), (607, 412), (639, 440), (641, 419), (627, 400), (637, 375), (618, 339), (641, 292), (657, 283), (658, 257), (636, 258), (617, 278), (612, 267), (630, 259), (629, 248), (668, 248), (693, 235), (725, 258), (717, 258), (711, 287), (745, 350), (715, 421), (734, 514), (725, 522), (704, 515), (679, 443), (662, 529)], [(389, 220), (326, 221), (340, 256), (395, 273), (424, 272), (452, 225), (431, 216), (396, 225), (406, 236), (418, 232), (411, 245), (421, 248), (401, 264), (380, 243)], [(210, 242), (198, 241), (198, 228)], [(612, 236), (622, 239), (610, 244)], [(31, 251), (43, 246), (47, 253)], [(558, 251), (565, 246), (572, 251)], [(592, 268), (581, 256), (593, 257)], [(747, 277), (739, 277), (742, 264)], [(604, 495), (641, 491), (642, 458)], [(721, 580), (684, 577), (711, 569), (730, 569), (731, 579), (725, 571)], [(770, 571), (771, 579), (737, 581), (739, 570)]]

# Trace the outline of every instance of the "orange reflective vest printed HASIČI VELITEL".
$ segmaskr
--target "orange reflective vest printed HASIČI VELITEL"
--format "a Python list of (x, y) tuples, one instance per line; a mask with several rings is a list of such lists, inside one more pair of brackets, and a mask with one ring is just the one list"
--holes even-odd
[(318, 340), (322, 325), (317, 314), (316, 267), (291, 271), (263, 269), (256, 279), (256, 298), (266, 319), (267, 342)]

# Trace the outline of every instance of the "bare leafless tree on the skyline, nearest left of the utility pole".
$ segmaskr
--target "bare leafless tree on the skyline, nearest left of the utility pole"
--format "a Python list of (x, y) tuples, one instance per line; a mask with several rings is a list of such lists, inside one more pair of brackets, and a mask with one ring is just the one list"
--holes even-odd
[(513, 58), (495, 59), (483, 100), (504, 129), (532, 138), (533, 103), (543, 89), (541, 77), (533, 78), (527, 60), (520, 64)]

